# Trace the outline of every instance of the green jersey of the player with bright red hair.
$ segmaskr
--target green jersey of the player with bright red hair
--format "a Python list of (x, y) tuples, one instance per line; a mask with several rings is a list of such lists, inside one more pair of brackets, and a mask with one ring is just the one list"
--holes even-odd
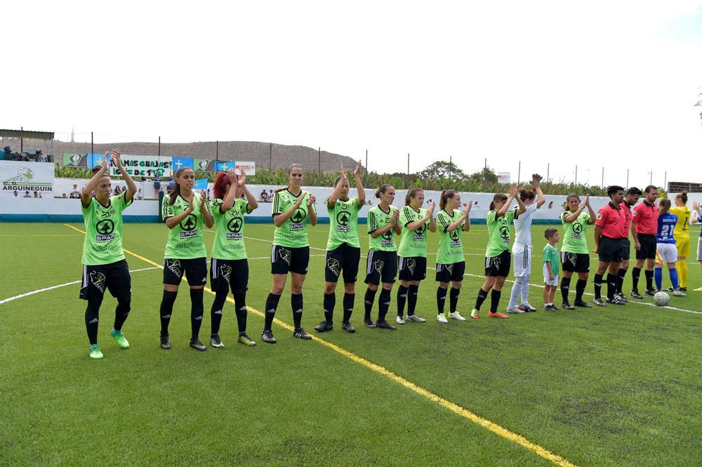
[(212, 257), (217, 259), (246, 259), (244, 245), (244, 214), (250, 214), (249, 201), (243, 198), (234, 200), (232, 209), (220, 212), (223, 199), (212, 202), (212, 217), (215, 220), (215, 241), (212, 244)]

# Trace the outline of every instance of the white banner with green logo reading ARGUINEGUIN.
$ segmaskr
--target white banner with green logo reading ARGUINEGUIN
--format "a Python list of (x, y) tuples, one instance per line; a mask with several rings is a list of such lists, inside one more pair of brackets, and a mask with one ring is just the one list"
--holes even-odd
[(3, 197), (53, 197), (53, 164), (0, 161), (0, 183)]

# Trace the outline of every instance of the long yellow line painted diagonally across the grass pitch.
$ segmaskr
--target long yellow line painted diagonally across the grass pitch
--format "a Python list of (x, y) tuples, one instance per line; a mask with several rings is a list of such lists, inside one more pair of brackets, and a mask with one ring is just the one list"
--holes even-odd
[[(81, 232), (85, 234), (83, 230), (77, 229), (73, 227), (72, 225), (64, 224), (69, 228), (72, 228), (73, 230), (77, 230), (78, 232)], [(157, 266), (157, 268), (163, 269), (163, 265), (154, 263), (154, 261), (151, 261), (150, 259), (144, 258), (143, 256), (140, 256), (138, 254), (133, 253), (132, 251), (124, 250), (125, 253), (130, 254), (131, 256), (134, 256), (135, 258), (139, 258), (142, 261), (145, 261), (146, 263), (150, 265)], [(210, 294), (215, 294), (212, 289), (209, 287), (205, 287), (205, 290), (208, 291)], [(230, 303), (234, 303), (234, 299), (231, 298), (230, 296), (227, 295), (227, 301)], [(252, 313), (255, 313), (256, 315), (259, 315), (260, 317), (265, 317), (265, 314), (259, 310), (256, 310), (256, 308), (252, 308), (251, 306), (246, 306), (246, 308), (251, 311)], [(288, 331), (293, 331), (293, 327), (290, 324), (287, 324), (286, 322), (282, 322), (278, 318), (274, 318), (273, 320), (274, 323), (278, 324), (280, 327), (283, 327), (284, 329), (287, 329)], [(451, 412), (454, 414), (463, 417), (464, 419), (470, 420), (473, 423), (476, 423), (479, 426), (482, 426), (484, 428), (487, 428), (491, 432), (495, 433), (498, 436), (501, 436), (502, 438), (505, 438), (506, 440), (510, 440), (512, 442), (515, 442), (517, 445), (525, 447), (529, 449), (529, 451), (534, 452), (535, 454), (538, 454), (539, 456), (543, 457), (543, 459), (546, 459), (547, 461), (550, 461), (552, 463), (555, 463), (557, 466), (561, 467), (578, 467), (576, 464), (572, 463), (571, 461), (568, 461), (567, 459), (564, 459), (563, 457), (553, 454), (550, 452), (548, 449), (545, 449), (544, 447), (541, 447), (537, 445), (534, 442), (531, 442), (527, 440), (527, 438), (524, 438), (522, 435), (517, 435), (517, 433), (514, 433), (507, 428), (503, 428), (502, 426), (498, 425), (497, 423), (494, 423), (492, 421), (489, 421), (488, 419), (482, 418), (482, 416), (479, 416), (477, 414), (474, 414), (473, 412), (470, 412), (470, 410), (465, 409), (461, 407), (458, 404), (455, 404), (454, 402), (451, 402), (450, 400), (444, 399), (444, 397), (441, 397), (439, 395), (436, 395), (435, 393), (432, 393), (430, 390), (427, 390), (421, 386), (416, 385), (415, 383), (412, 383), (411, 381), (404, 379), (402, 376), (399, 376), (389, 369), (386, 369), (385, 367), (381, 367), (378, 364), (375, 364), (369, 360), (366, 360), (364, 357), (360, 357), (359, 355), (356, 355), (355, 353), (352, 353), (345, 348), (341, 348), (337, 346), (336, 344), (333, 344), (329, 341), (325, 341), (322, 338), (319, 338), (317, 336), (312, 336), (312, 341), (317, 341), (322, 346), (325, 346), (326, 348), (329, 348), (333, 350), (334, 352), (343, 355), (344, 357), (349, 358), (353, 362), (356, 362), (358, 364), (362, 364), (364, 367), (371, 369), (375, 371), (378, 374), (381, 374), (383, 376), (386, 376), (390, 378), (392, 381), (395, 381), (396, 383), (402, 384), (405, 388), (408, 388), (409, 390), (413, 390), (415, 393), (418, 395), (421, 395), (428, 400), (431, 400), (432, 402), (437, 402), (437, 404), (441, 405), (444, 407), (444, 409), (449, 409)]]

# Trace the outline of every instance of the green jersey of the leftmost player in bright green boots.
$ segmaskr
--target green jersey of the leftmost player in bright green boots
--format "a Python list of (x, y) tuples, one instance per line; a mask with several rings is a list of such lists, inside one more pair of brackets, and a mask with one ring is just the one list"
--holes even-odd
[(83, 206), (83, 222), (86, 226), (86, 238), (83, 242), (81, 262), (95, 266), (110, 264), (124, 259), (122, 251), (122, 211), (131, 205), (124, 201), (125, 193), (110, 197), (107, 206), (102, 206), (98, 199), (91, 198), (88, 206)]

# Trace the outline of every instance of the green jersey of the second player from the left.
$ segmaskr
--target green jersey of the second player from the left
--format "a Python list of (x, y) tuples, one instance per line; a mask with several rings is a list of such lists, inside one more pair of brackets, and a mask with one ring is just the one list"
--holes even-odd
[[(192, 205), (194, 209), (180, 224), (168, 229), (168, 242), (164, 258), (192, 259), (207, 256), (204, 239), (202, 237), (202, 212), (200, 211), (200, 195), (193, 193)], [(176, 202), (171, 204), (171, 197), (164, 197), (161, 212), (164, 219), (176, 217), (183, 213), (190, 204), (180, 195)], [(207, 207), (207, 203), (205, 203)]]

